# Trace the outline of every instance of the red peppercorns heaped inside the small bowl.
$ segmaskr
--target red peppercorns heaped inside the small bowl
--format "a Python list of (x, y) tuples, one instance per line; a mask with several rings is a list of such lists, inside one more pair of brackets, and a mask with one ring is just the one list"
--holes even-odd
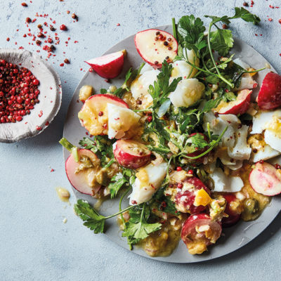
[(0, 124), (22, 121), (39, 103), (39, 80), (25, 67), (0, 58)]

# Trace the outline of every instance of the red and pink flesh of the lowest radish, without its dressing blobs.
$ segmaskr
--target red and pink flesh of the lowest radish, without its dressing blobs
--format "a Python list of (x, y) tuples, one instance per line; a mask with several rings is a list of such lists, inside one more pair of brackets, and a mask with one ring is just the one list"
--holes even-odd
[[(212, 233), (212, 241), (206, 237), (205, 232), (197, 233), (196, 230), (200, 228), (200, 226), (209, 226)], [(185, 243), (186, 247), (188, 247), (189, 251), (190, 247), (197, 242), (201, 244), (203, 243), (207, 247), (210, 244), (214, 244), (220, 236), (221, 223), (213, 221), (207, 214), (190, 216), (183, 224), (183, 228), (181, 230), (181, 239)], [(200, 252), (190, 252), (190, 254), (202, 254), (205, 250), (206, 249), (202, 249)]]

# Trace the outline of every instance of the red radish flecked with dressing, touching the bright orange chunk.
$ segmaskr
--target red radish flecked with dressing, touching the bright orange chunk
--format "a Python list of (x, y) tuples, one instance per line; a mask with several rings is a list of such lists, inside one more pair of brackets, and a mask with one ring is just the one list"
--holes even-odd
[[(190, 188), (188, 190), (184, 190), (182, 188), (183, 183), (188, 183), (190, 185)], [(207, 188), (202, 181), (200, 181), (199, 178), (196, 178), (195, 176), (192, 176), (190, 178), (185, 179), (183, 181), (181, 188), (178, 188), (178, 192), (176, 193), (174, 197), (174, 202), (176, 204), (176, 209), (183, 213), (189, 213), (189, 214), (199, 214), (202, 211), (206, 209), (206, 207), (200, 205), (195, 206), (195, 197), (197, 190), (204, 189), (209, 195), (211, 194), (209, 188)]]

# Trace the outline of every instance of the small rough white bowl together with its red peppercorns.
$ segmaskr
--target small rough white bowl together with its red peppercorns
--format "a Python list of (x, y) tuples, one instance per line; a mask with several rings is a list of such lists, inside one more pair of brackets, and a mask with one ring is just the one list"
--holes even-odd
[(60, 78), (30, 51), (0, 49), (0, 142), (41, 133), (60, 109)]

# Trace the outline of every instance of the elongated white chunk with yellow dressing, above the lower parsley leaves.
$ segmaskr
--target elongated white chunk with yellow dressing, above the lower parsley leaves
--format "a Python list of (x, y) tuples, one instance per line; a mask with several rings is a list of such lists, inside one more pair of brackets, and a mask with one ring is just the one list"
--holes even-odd
[(148, 164), (148, 166), (141, 168), (139, 173), (136, 174), (136, 181), (132, 185), (133, 191), (129, 195), (130, 204), (136, 205), (148, 202), (159, 189), (166, 176), (167, 169), (168, 164), (166, 162), (158, 165)]

